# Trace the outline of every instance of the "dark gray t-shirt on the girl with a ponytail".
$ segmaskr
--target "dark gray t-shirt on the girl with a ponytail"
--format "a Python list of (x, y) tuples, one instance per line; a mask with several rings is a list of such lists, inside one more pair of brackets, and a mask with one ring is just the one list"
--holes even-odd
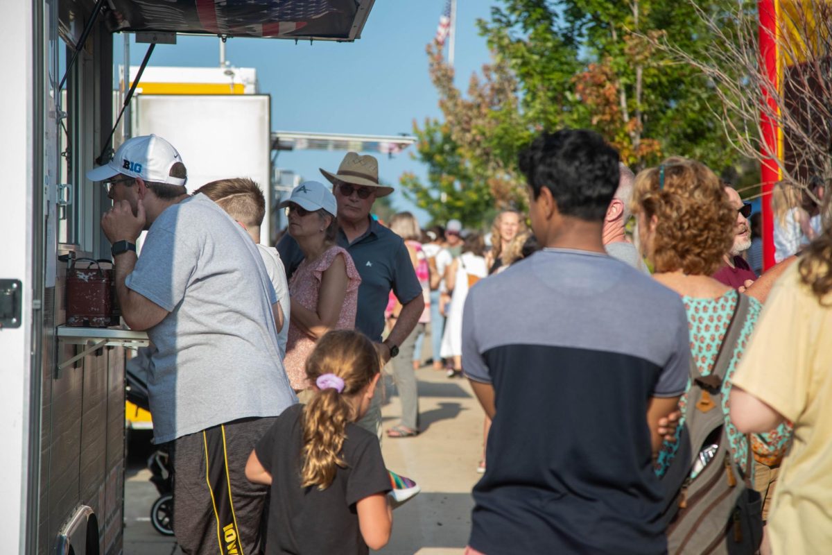
[(379, 439), (356, 424), (347, 424), (338, 468), (329, 488), (300, 487), (304, 406), (287, 409), (255, 447), (260, 464), (271, 474), (269, 526), (265, 553), (364, 555), (355, 503), (390, 491)]

